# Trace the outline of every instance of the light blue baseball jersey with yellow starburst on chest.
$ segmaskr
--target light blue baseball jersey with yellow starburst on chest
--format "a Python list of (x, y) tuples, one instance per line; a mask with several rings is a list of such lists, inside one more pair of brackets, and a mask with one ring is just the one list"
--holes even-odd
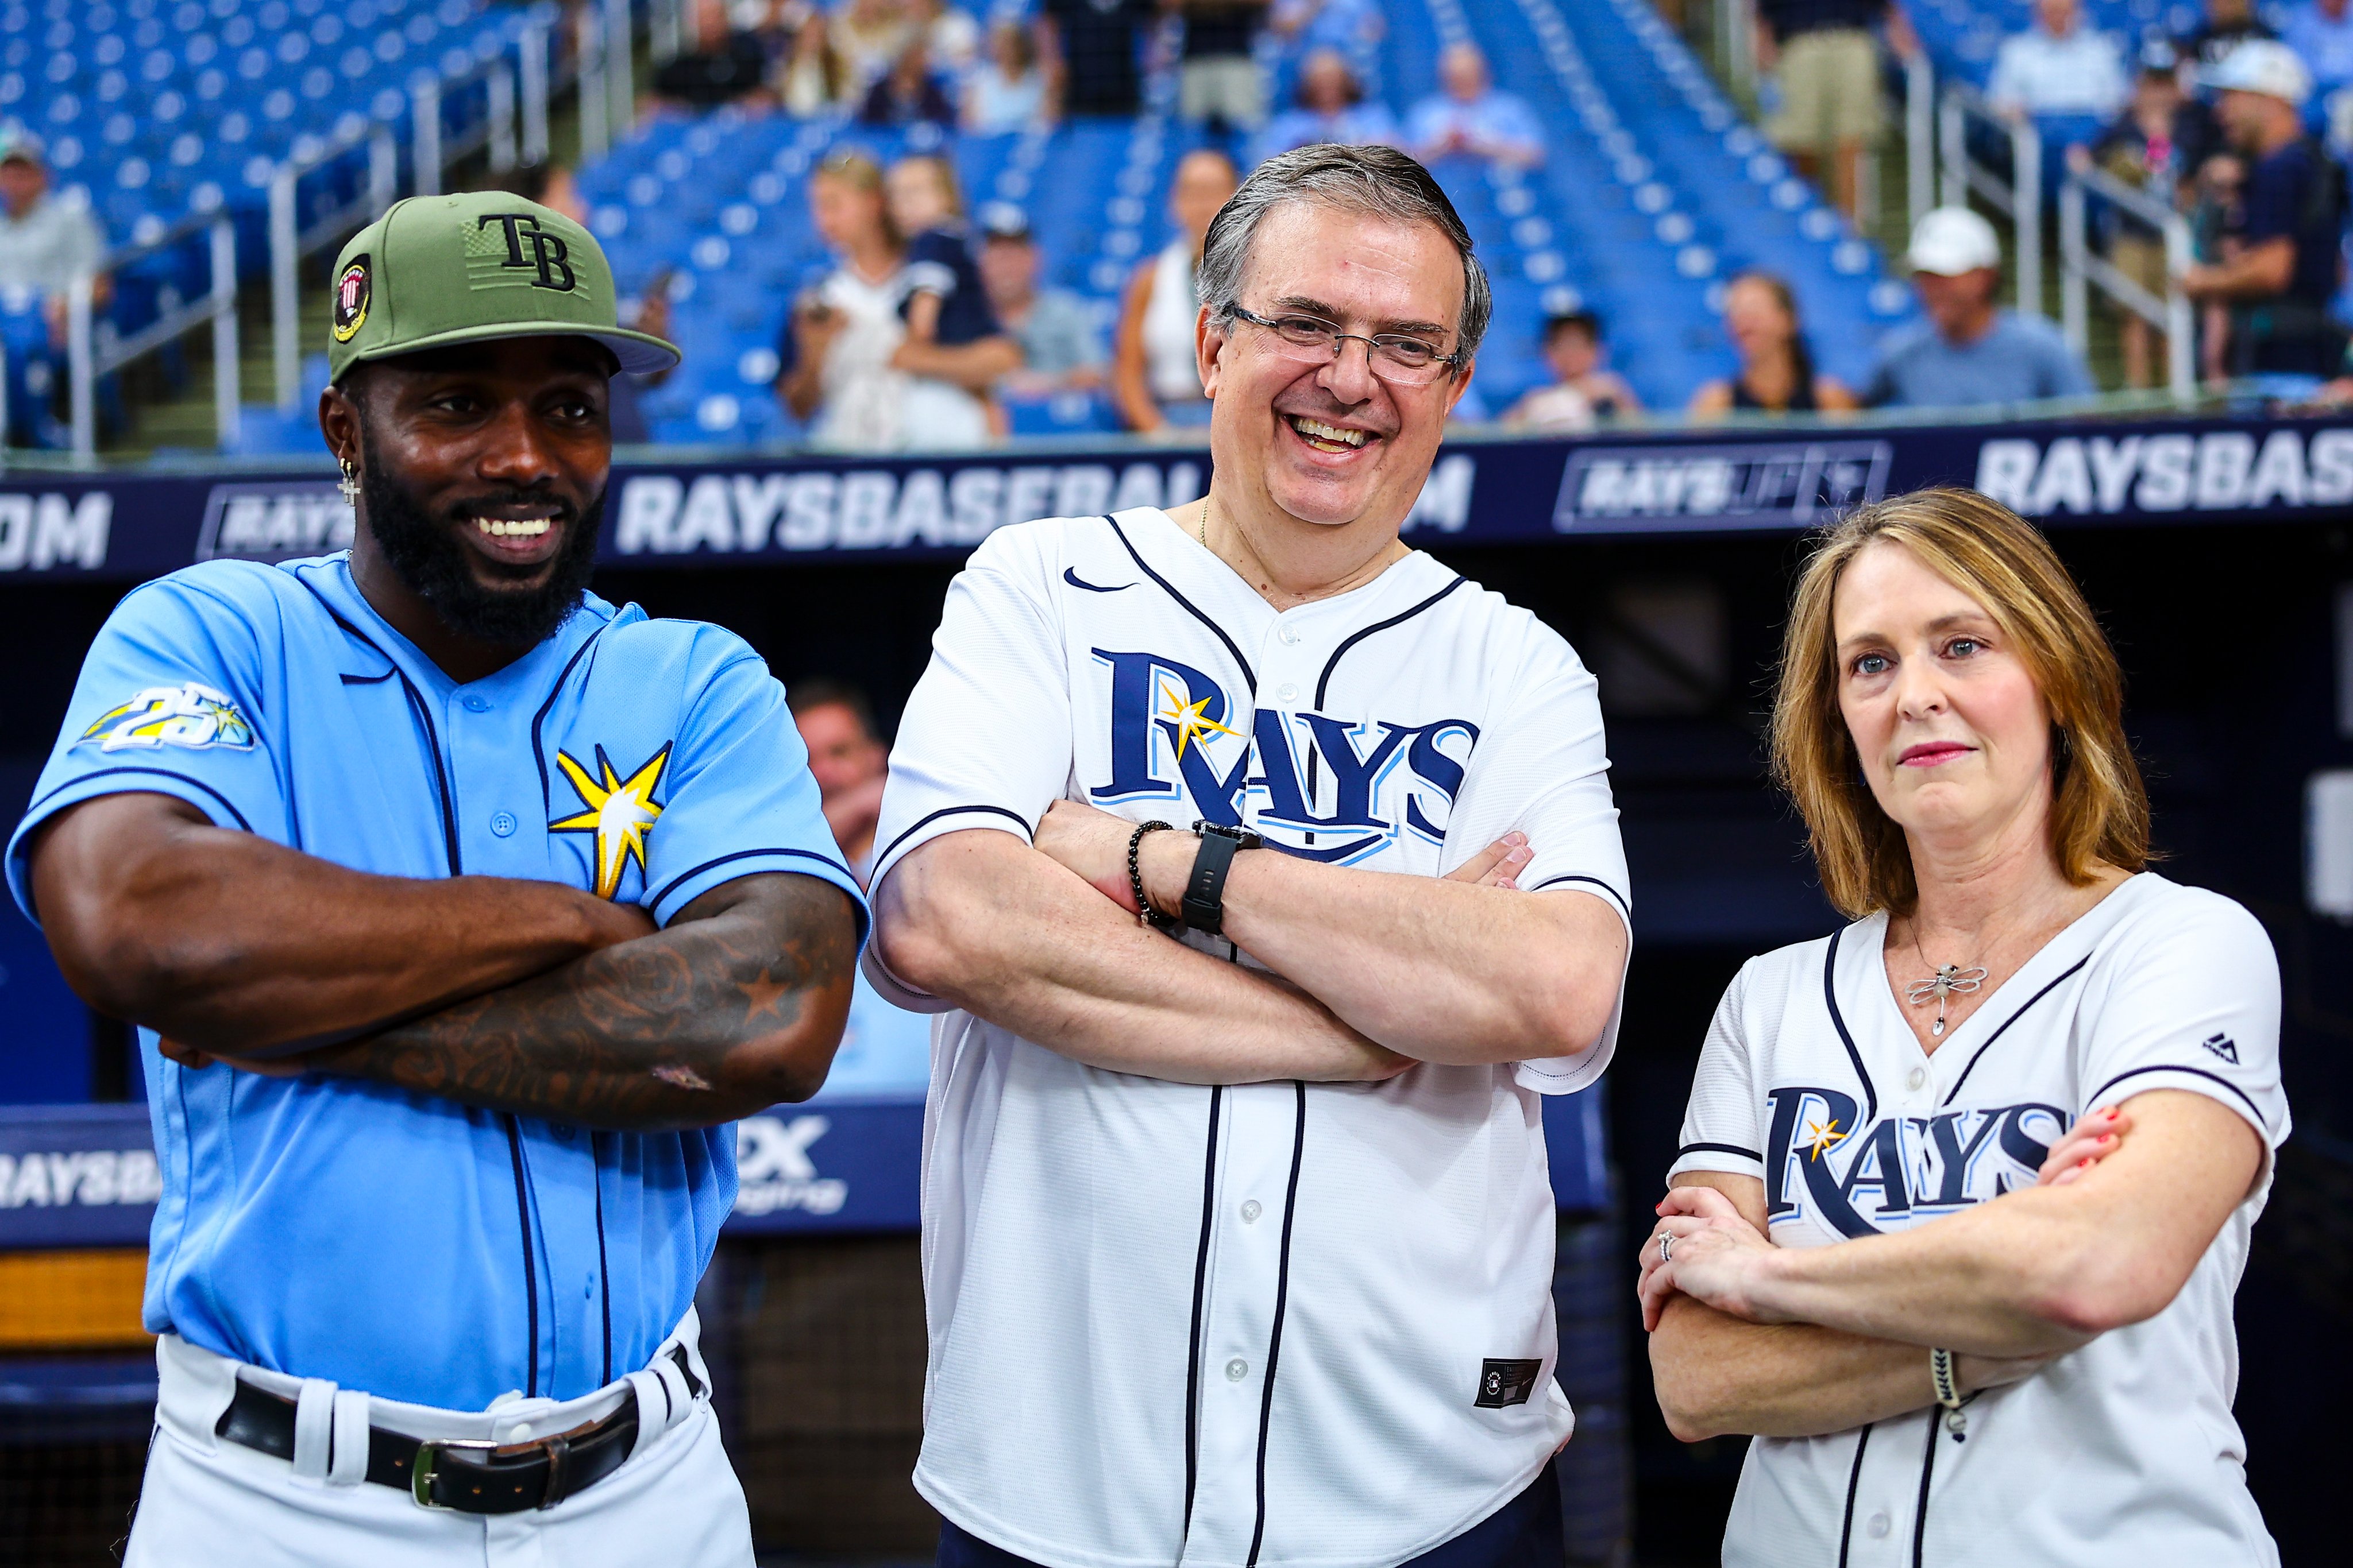
[[(122, 599), (28, 835), (153, 790), (353, 870), (529, 877), (668, 924), (755, 872), (840, 863), (784, 689), (739, 637), (588, 597), (456, 684), (346, 555), (207, 562)], [(612, 1133), (336, 1077), (188, 1070), (139, 1032), (162, 1161), (146, 1326), (386, 1399), (574, 1399), (685, 1316), (734, 1206), (734, 1126)]]

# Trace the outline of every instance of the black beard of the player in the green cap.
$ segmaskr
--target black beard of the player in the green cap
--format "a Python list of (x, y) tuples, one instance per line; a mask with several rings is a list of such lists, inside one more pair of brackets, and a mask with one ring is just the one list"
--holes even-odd
[[(468, 496), (468, 503), (539, 501), (532, 491)], [(595, 536), (605, 517), (600, 494), (586, 512), (558, 501), (555, 522), (565, 527), (562, 550), (548, 581), (539, 588), (487, 588), (473, 576), (466, 545), (452, 529), (471, 527), (456, 517), (438, 522), (416, 503), (409, 487), (376, 465), (374, 454), (360, 458), (360, 501), (367, 531), (384, 552), (393, 576), (433, 607), (459, 637), (494, 646), (539, 646), (579, 609), (588, 576), (595, 571)]]

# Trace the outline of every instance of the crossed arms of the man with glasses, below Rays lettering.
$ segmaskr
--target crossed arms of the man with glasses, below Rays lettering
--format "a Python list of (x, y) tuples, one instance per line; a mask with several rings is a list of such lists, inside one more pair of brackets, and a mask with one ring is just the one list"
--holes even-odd
[[(1626, 929), (1586, 893), (1522, 893), (1525, 842), (1452, 877), (1235, 856), (1228, 964), (1136, 924), (1122, 818), (1056, 802), (1035, 846), (995, 830), (922, 844), (882, 882), (875, 940), (901, 980), (1092, 1067), (1188, 1084), (1386, 1079), (1419, 1060), (1591, 1046)], [(1146, 896), (1176, 910), (1195, 839), (1144, 839)]]

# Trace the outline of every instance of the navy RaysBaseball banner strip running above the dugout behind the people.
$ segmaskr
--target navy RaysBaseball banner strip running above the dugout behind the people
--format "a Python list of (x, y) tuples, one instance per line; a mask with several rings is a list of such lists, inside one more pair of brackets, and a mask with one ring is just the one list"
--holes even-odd
[[(1176, 505), (1209, 454), (1127, 442), (953, 458), (628, 461), (605, 562), (958, 557), (1031, 517)], [(1798, 531), (1925, 484), (1969, 484), (2047, 524), (2285, 522), (2353, 503), (2353, 423), (2042, 421), (1621, 430), (1454, 440), (1407, 520), (1419, 543)], [(351, 543), (325, 456), (287, 473), (0, 475), (0, 583), (141, 581), (198, 559), (287, 559)]]

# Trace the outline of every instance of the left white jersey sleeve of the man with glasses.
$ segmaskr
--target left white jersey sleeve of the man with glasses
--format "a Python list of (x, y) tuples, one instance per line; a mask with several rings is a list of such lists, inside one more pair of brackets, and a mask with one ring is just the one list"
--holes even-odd
[[(1002, 529), (948, 583), (932, 663), (906, 701), (875, 823), (868, 889), (911, 851), (988, 827), (1026, 842), (1071, 788), (1071, 682), (1035, 529)], [(915, 1011), (946, 1011), (866, 947), (866, 976)]]

